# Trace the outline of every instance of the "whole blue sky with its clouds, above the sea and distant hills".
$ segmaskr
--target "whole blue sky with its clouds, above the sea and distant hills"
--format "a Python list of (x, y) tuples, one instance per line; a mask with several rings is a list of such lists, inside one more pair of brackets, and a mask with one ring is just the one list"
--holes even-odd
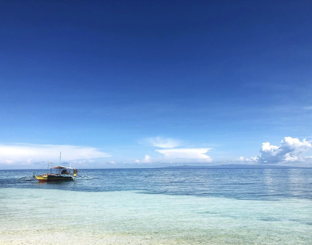
[(309, 1), (0, 9), (0, 169), (312, 167)]

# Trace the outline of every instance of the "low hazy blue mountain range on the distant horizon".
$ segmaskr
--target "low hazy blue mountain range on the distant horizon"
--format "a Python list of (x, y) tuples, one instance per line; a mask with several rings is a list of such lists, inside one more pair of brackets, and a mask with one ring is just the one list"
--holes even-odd
[(249, 164), (222, 164), (214, 166), (168, 166), (163, 169), (298, 169), (301, 167), (281, 166), (281, 165), (249, 165)]

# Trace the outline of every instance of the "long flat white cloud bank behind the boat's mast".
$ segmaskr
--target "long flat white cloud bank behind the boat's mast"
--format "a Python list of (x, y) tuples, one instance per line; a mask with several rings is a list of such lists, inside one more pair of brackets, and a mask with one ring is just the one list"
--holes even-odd
[(62, 159), (66, 161), (111, 156), (94, 147), (88, 146), (33, 144), (0, 145), (0, 164), (30, 165), (37, 162), (58, 162), (60, 151), (62, 151)]

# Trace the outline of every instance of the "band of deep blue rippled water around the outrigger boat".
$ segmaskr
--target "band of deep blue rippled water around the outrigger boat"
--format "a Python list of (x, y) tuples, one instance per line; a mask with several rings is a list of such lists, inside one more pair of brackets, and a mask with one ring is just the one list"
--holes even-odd
[(0, 170), (1, 188), (80, 192), (140, 191), (149, 194), (214, 196), (243, 200), (312, 199), (312, 169), (80, 169), (93, 180), (60, 183), (15, 181), (46, 170)]

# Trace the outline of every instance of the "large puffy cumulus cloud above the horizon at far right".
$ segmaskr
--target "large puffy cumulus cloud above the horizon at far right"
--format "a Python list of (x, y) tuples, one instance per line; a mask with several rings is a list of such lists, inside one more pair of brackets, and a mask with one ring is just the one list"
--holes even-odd
[(259, 164), (276, 164), (302, 162), (311, 156), (303, 156), (312, 149), (312, 141), (298, 138), (285, 137), (280, 141), (280, 146), (271, 145), (270, 142), (262, 143), (260, 156), (244, 158), (240, 157), (239, 161), (257, 162)]

